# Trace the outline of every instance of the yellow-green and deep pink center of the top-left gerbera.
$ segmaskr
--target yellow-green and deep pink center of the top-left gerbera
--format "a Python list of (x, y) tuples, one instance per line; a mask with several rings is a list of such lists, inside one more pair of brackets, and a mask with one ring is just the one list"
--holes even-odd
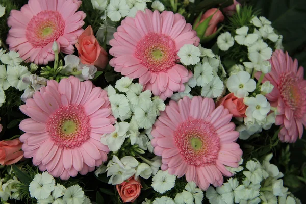
[(33, 47), (44, 47), (63, 35), (65, 21), (58, 11), (41, 11), (33, 16), (25, 36)]

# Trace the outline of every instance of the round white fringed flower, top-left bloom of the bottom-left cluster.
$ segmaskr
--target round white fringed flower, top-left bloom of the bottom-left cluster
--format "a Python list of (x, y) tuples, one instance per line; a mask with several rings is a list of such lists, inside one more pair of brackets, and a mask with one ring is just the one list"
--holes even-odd
[(48, 172), (36, 174), (29, 185), (30, 196), (36, 199), (45, 199), (55, 188), (55, 180)]

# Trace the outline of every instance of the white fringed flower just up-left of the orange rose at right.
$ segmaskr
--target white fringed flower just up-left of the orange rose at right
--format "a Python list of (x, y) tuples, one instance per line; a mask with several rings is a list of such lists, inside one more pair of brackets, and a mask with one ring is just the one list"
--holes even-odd
[(206, 98), (217, 98), (224, 90), (224, 84), (222, 80), (217, 76), (208, 84), (203, 86), (201, 90), (201, 96)]

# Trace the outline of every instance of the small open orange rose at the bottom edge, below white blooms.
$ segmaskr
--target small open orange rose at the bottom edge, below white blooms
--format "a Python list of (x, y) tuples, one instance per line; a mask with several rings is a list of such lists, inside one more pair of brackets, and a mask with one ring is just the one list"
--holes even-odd
[(126, 182), (117, 184), (116, 188), (123, 202), (134, 202), (140, 195), (142, 186), (132, 176)]

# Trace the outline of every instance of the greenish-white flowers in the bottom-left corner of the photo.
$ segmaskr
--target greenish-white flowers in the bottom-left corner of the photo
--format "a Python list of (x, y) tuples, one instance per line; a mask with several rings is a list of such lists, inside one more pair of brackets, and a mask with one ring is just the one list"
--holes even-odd
[(9, 179), (4, 182), (4, 179), (0, 180), (0, 198), (3, 201), (8, 199), (20, 200), (20, 193), (18, 192), (18, 184), (20, 181), (14, 176), (13, 179)]

